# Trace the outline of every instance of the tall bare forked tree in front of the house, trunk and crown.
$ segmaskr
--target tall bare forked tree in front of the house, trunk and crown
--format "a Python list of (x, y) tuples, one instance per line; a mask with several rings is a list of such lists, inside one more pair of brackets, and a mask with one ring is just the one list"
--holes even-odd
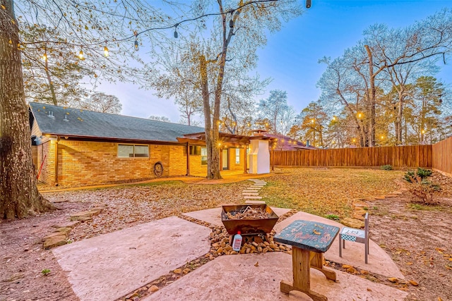
[[(225, 76), (235, 70), (232, 74), (237, 78), (246, 78), (247, 71), (256, 66), (256, 49), (266, 43), (266, 30), (275, 32), (280, 29), (280, 19), (288, 20), (301, 13), (299, 4), (292, 0), (199, 0), (194, 1), (191, 11), (184, 16), (189, 13), (201, 16), (213, 6), (217, 16), (199, 19), (198, 32), (175, 34), (180, 36), (179, 41), (158, 49), (163, 52), (159, 57), (165, 73), (157, 75), (153, 82), (160, 94), (169, 96), (174, 95), (172, 86), (180, 82), (192, 82), (194, 89), (201, 91), (209, 179), (221, 178), (218, 129)], [(179, 64), (176, 65), (176, 61)], [(193, 76), (181, 78), (184, 73), (179, 72), (179, 68), (189, 69)]]

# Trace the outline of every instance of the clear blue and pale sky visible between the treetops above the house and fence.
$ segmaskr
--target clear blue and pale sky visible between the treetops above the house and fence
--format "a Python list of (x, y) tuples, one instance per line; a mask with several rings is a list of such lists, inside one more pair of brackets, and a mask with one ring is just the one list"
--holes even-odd
[[(301, 2), (304, 5), (304, 0)], [(266, 99), (270, 90), (283, 90), (287, 92), (287, 102), (299, 113), (320, 97), (316, 82), (326, 69), (318, 63), (323, 56), (341, 56), (362, 39), (362, 32), (369, 25), (405, 27), (446, 7), (452, 8), (451, 0), (312, 0), (311, 8), (283, 23), (283, 28), (268, 35), (266, 46), (258, 50), (258, 68), (251, 74), (273, 80), (264, 94), (256, 96), (256, 101)], [(451, 61), (441, 63), (436, 78), (452, 84)], [(119, 97), (123, 115), (166, 116), (179, 122), (180, 113), (172, 100), (159, 99), (152, 90), (117, 82), (100, 85), (97, 91)]]

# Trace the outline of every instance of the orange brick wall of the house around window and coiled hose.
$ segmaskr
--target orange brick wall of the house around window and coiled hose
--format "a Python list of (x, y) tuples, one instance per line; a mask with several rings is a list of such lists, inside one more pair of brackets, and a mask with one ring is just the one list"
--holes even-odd
[[(47, 154), (40, 180), (54, 185), (54, 147), (48, 141), (37, 147), (38, 164)], [(186, 147), (149, 145), (148, 158), (118, 158), (118, 143), (84, 142), (61, 139), (58, 143), (58, 182), (60, 185), (94, 185), (156, 178), (153, 166), (160, 161), (162, 176), (186, 174)]]

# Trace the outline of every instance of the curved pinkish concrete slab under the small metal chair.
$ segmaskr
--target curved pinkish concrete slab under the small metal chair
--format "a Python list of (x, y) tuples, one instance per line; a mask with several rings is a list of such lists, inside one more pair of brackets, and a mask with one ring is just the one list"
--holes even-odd
[[(302, 219), (305, 221), (318, 221), (319, 223), (326, 223), (327, 225), (343, 228), (342, 223), (325, 219), (321, 216), (308, 214), (306, 212), (297, 212), (289, 218), (277, 223), (275, 231), (278, 233), (287, 227), (292, 221)], [(371, 218), (370, 218), (371, 221)], [(372, 226), (370, 226), (370, 237), (372, 233)], [(364, 269), (372, 273), (381, 274), (388, 277), (397, 277), (404, 279), (405, 276), (400, 272), (398, 266), (393, 262), (391, 257), (374, 241), (369, 240), (369, 260), (368, 264), (364, 264), (364, 244), (359, 242), (345, 242), (346, 249), (343, 249), (342, 256), (339, 257), (339, 238), (336, 237), (330, 249), (325, 253), (325, 258), (333, 262), (341, 264), (349, 264), (356, 266), (359, 269)]]

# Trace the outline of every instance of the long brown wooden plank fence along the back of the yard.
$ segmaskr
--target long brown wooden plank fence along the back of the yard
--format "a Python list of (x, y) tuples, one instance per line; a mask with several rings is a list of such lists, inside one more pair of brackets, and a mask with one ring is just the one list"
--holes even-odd
[[(452, 140), (446, 146), (452, 147)], [(445, 147), (445, 149), (446, 149)], [(432, 145), (360, 147), (347, 149), (299, 149), (270, 154), (273, 166), (382, 166), (432, 167)], [(449, 164), (450, 165), (450, 164)], [(440, 169), (440, 168), (438, 168)], [(442, 169), (441, 169), (442, 170)]]

